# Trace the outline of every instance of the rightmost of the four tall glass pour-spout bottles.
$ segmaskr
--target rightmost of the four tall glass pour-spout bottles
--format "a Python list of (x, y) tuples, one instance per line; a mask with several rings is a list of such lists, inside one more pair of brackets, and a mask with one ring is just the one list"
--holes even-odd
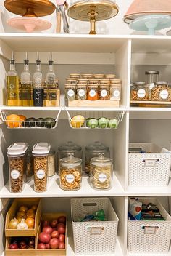
[(56, 75), (54, 73), (52, 54), (49, 60), (49, 71), (46, 74), (47, 100), (46, 106), (56, 106), (57, 104), (57, 83)]

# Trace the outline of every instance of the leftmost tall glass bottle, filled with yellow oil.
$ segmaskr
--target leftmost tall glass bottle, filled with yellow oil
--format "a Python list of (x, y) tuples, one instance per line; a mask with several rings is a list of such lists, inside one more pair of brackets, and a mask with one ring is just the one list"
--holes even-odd
[(12, 60), (10, 60), (10, 70), (7, 73), (7, 105), (20, 105), (19, 95), (19, 78), (15, 70), (14, 55), (12, 52)]

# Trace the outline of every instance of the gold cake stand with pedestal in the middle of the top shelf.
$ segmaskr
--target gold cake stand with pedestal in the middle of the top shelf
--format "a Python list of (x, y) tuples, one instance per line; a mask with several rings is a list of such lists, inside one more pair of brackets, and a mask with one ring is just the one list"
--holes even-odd
[(90, 34), (96, 34), (96, 21), (107, 20), (117, 15), (119, 7), (113, 1), (78, 1), (68, 9), (67, 15), (75, 20), (90, 21)]

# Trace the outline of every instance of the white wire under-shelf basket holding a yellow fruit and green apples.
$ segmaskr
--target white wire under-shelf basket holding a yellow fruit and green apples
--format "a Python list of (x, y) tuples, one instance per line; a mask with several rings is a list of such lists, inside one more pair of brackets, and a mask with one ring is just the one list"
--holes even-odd
[(72, 129), (117, 129), (125, 111), (67, 111)]

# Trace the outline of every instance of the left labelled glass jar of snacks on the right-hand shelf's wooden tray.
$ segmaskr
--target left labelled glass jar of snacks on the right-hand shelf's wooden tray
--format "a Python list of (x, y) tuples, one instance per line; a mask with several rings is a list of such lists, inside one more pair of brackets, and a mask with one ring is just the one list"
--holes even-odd
[(136, 82), (130, 91), (130, 100), (149, 100), (149, 86), (145, 82)]

